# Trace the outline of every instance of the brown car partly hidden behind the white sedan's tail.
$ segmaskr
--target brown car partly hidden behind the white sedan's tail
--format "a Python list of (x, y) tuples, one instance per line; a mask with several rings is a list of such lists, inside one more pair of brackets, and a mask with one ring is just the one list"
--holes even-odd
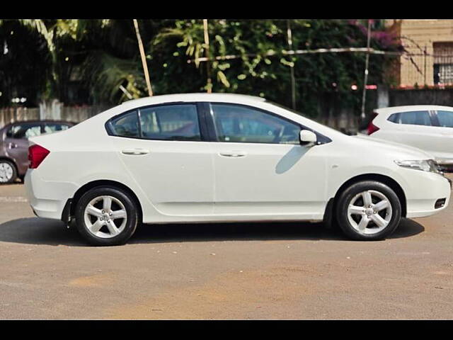
[(28, 169), (28, 138), (62, 131), (74, 123), (56, 120), (28, 120), (0, 129), (0, 184), (23, 179)]

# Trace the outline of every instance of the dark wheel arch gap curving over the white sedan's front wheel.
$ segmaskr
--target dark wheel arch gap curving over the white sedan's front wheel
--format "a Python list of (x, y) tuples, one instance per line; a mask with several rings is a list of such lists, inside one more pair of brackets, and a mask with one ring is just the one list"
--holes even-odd
[(401, 203), (401, 217), (406, 217), (406, 195), (404, 194), (403, 188), (401, 188), (397, 181), (389, 176), (381, 174), (361, 174), (348, 179), (348, 181), (345, 181), (345, 183), (343, 183), (340, 188), (338, 188), (335, 196), (328, 200), (326, 212), (324, 212), (324, 223), (326, 223), (328, 226), (331, 226), (334, 218), (334, 212), (336, 211), (338, 198), (340, 194), (345, 190), (345, 188), (348, 188), (348, 186), (352, 186), (352, 184), (361, 181), (378, 181), (386, 184), (386, 186), (389, 186), (396, 193), (396, 196), (398, 196), (398, 199)]

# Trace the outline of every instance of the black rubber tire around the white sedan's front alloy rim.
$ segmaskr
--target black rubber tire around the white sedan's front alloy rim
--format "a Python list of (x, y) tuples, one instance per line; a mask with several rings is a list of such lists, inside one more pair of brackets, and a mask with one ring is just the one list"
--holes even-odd
[[(389, 218), (389, 221), (387, 222), (388, 224), (384, 227), (379, 232), (376, 232), (374, 234), (365, 234), (365, 232), (359, 232), (358, 229), (356, 229), (352, 223), (350, 222), (350, 217), (348, 215), (348, 207), (350, 205), (351, 200), (353, 200), (357, 195), (360, 195), (360, 193), (363, 193), (365, 191), (377, 191), (381, 194), (383, 194), (387, 200), (390, 203), (391, 206), (391, 217), (386, 217)], [(372, 196), (373, 200), (379, 200), (379, 198), (376, 198), (376, 196)], [(360, 196), (358, 200), (355, 200), (355, 202), (360, 202)], [(356, 204), (355, 204), (356, 205)], [(363, 203), (365, 206), (365, 202)], [(364, 207), (365, 208), (365, 207)], [(365, 209), (366, 210), (366, 209)], [(373, 210), (373, 209), (371, 209)], [(386, 212), (389, 210), (385, 210), (384, 212), (377, 212), (378, 214), (385, 215)], [(364, 217), (372, 217), (372, 215), (366, 215), (366, 213), (373, 214), (373, 212), (367, 210), (367, 212), (364, 212)], [(375, 212), (374, 212), (375, 213)], [(390, 215), (390, 214), (389, 214)], [(351, 217), (353, 219), (357, 219), (356, 225), (358, 227), (361, 216), (360, 215), (353, 215), (355, 217)], [(386, 186), (384, 183), (380, 183), (377, 181), (361, 181), (358, 183), (352, 184), (352, 186), (348, 187), (343, 193), (338, 198), (338, 202), (336, 205), (336, 217), (337, 217), (337, 222), (340, 228), (343, 230), (343, 232), (346, 234), (346, 236), (350, 237), (350, 239), (355, 239), (355, 240), (360, 240), (360, 241), (377, 241), (381, 239), (385, 239), (388, 237), (392, 232), (395, 231), (396, 227), (398, 227), (399, 223), (401, 222), (401, 203), (398, 199), (398, 196), (396, 196), (396, 193), (389, 188), (389, 186)], [(382, 216), (381, 216), (382, 217)], [(374, 221), (370, 220), (369, 225), (365, 228), (370, 228), (367, 229), (368, 232), (372, 232), (372, 227), (377, 227), (377, 225), (374, 223)], [(378, 230), (378, 229), (377, 229)]]

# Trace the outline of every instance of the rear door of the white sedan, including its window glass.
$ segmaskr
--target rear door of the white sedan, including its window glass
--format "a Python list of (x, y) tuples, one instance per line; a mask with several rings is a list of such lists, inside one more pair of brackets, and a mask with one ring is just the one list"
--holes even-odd
[(113, 142), (132, 178), (164, 215), (212, 215), (212, 146), (196, 103), (139, 108), (110, 121)]

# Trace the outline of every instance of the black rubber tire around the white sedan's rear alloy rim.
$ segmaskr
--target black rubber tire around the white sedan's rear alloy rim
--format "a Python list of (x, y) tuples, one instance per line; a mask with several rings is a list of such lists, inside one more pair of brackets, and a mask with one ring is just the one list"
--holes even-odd
[[(118, 201), (120, 201), (120, 203), (122, 203), (122, 205), (124, 205), (124, 208), (127, 212), (127, 218), (125, 219), (124, 229), (122, 229), (122, 231), (116, 236), (112, 236), (109, 238), (98, 237), (95, 234), (91, 233), (88, 230), (85, 220), (86, 206), (92, 200), (101, 196), (111, 196), (113, 198), (116, 198)], [(99, 186), (84, 193), (84, 195), (81, 196), (81, 198), (76, 204), (75, 215), (77, 230), (79, 231), (81, 236), (84, 237), (86, 241), (88, 241), (88, 243), (93, 244), (95, 246), (115, 246), (125, 244), (127, 240), (130, 239), (130, 237), (132, 237), (132, 235), (134, 234), (135, 229), (137, 229), (137, 224), (139, 222), (139, 210), (137, 208), (137, 203), (135, 203), (134, 198), (132, 198), (129, 193), (112, 186)], [(90, 218), (93, 218), (96, 221), (96, 218), (98, 217), (93, 216)], [(108, 229), (105, 229), (107, 227), (103, 228), (104, 229), (101, 229), (101, 231), (104, 230), (105, 234), (108, 234)]]

